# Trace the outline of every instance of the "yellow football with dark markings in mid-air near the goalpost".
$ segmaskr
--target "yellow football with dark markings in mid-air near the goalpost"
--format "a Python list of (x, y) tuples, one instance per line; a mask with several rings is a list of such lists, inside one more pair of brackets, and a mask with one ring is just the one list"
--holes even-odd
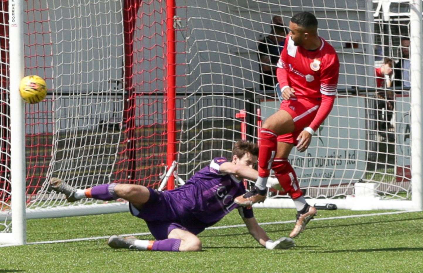
[(26, 76), (21, 79), (19, 92), (24, 101), (36, 104), (47, 95), (47, 85), (43, 78), (37, 75)]

